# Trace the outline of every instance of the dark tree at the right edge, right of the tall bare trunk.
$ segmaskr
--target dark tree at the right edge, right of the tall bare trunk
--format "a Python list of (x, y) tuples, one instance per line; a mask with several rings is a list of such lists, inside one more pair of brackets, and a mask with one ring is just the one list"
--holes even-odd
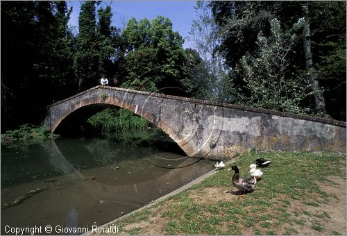
[(312, 1), (307, 17), (313, 67), (326, 112), (346, 121), (346, 1)]

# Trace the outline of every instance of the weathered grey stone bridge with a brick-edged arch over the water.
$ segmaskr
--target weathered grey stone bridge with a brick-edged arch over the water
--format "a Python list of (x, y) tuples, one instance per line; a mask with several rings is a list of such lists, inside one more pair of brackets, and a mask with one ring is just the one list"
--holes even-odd
[(97, 105), (135, 112), (195, 157), (219, 160), (250, 150), (346, 154), (342, 121), (101, 85), (51, 105), (44, 124), (53, 133), (72, 113)]

